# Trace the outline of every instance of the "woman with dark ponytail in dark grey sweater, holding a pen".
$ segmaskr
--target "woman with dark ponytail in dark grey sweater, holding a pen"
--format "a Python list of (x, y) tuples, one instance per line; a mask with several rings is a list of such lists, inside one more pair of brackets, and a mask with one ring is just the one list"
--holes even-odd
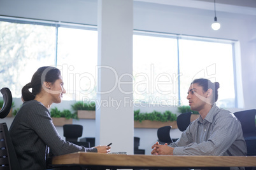
[[(52, 103), (60, 103), (66, 93), (60, 70), (40, 67), (31, 82), (22, 88), (24, 103), (10, 127), (11, 140), (22, 169), (46, 169), (46, 152), (53, 155), (72, 152), (108, 153), (110, 147), (85, 148), (60, 138), (52, 123), (49, 109)], [(29, 89), (32, 89), (31, 92)]]

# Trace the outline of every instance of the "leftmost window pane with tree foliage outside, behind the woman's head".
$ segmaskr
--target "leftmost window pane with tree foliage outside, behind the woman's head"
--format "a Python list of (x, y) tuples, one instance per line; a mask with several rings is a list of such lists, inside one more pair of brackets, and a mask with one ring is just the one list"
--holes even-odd
[(38, 67), (54, 65), (55, 27), (0, 21), (0, 87), (21, 97)]

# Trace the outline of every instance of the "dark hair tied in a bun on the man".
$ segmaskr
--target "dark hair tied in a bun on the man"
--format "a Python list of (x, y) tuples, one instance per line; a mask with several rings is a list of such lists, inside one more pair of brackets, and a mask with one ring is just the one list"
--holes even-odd
[(194, 79), (191, 84), (198, 84), (198, 86), (203, 87), (203, 91), (206, 92), (208, 89), (213, 89), (213, 103), (218, 100), (218, 88), (220, 88), (220, 83), (211, 82), (208, 79)]

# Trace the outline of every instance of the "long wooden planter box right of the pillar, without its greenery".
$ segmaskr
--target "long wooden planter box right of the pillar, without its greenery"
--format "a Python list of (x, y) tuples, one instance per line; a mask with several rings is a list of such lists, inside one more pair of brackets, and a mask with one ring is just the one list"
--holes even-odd
[(172, 121), (172, 122), (160, 122), (160, 121), (134, 121), (134, 128), (161, 128), (162, 126), (171, 126), (172, 129), (176, 129), (178, 128), (177, 126), (177, 122), (176, 121)]

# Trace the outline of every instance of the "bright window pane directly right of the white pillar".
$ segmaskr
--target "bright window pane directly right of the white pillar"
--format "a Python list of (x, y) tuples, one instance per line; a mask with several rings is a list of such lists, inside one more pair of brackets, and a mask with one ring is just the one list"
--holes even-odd
[(134, 100), (162, 105), (176, 105), (176, 39), (134, 35)]

